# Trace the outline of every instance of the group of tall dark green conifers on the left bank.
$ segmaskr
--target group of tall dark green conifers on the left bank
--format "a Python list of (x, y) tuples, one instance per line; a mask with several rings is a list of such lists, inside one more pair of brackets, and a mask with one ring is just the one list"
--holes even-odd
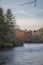
[(16, 45), (16, 22), (11, 9), (5, 12), (0, 7), (0, 47), (13, 47)]

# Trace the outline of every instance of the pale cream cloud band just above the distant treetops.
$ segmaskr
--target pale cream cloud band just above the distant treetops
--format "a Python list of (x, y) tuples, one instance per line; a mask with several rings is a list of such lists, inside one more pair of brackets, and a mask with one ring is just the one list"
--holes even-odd
[(21, 29), (39, 29), (43, 27), (43, 19), (17, 19), (17, 24)]

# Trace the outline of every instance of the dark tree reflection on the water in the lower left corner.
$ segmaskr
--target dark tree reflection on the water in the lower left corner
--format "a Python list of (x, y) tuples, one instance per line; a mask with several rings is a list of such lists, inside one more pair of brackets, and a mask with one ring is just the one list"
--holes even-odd
[(6, 65), (13, 60), (14, 56), (12, 51), (13, 50), (0, 52), (0, 65)]

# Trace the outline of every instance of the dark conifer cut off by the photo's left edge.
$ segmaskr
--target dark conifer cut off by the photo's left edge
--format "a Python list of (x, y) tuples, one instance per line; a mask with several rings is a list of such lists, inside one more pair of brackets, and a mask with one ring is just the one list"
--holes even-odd
[(4, 31), (5, 31), (5, 18), (3, 14), (3, 9), (0, 7), (0, 46), (3, 45), (3, 42), (5, 40)]

